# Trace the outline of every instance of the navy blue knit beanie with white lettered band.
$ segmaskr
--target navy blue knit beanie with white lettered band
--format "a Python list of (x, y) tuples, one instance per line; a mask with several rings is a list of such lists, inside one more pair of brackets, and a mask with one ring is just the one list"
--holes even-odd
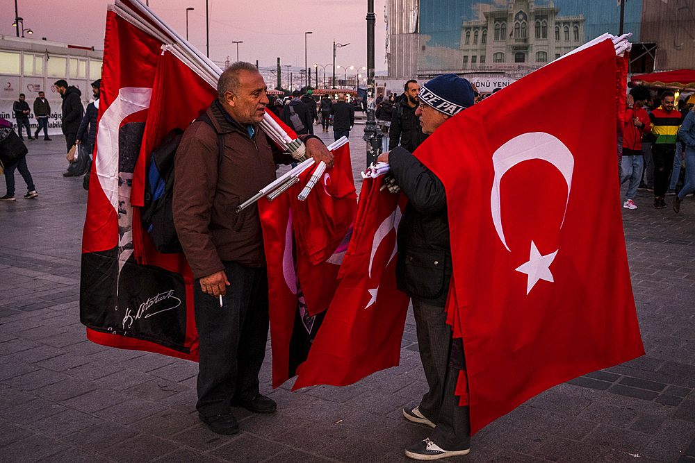
[(420, 101), (449, 116), (473, 106), (474, 98), (471, 83), (455, 74), (436, 76), (423, 84), (419, 96)]

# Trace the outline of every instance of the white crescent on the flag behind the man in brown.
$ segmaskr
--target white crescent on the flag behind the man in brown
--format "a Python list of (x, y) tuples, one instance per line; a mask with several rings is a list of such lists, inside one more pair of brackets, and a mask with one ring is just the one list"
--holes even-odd
[(99, 119), (95, 169), (101, 190), (104, 190), (104, 194), (116, 212), (118, 212), (118, 131), (123, 119), (149, 108), (151, 98), (151, 88), (123, 87), (118, 90), (118, 96)]

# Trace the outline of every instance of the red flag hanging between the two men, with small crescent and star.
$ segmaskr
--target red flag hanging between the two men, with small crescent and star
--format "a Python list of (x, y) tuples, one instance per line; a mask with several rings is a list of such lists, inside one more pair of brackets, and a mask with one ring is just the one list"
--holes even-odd
[(383, 178), (362, 184), (362, 216), (355, 219), (340, 285), (293, 390), (350, 385), (398, 365), (409, 298), (396, 289), (395, 230), (405, 199), (379, 191), (383, 184)]

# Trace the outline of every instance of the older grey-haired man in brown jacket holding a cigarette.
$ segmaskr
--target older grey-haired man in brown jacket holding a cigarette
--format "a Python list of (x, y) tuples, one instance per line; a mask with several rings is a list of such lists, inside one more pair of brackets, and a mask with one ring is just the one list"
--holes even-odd
[[(239, 426), (231, 405), (270, 413), (275, 402), (259, 392), (268, 339), (268, 273), (257, 206), (237, 205), (275, 180), (275, 164), (289, 164), (259, 127), (268, 97), (263, 77), (236, 62), (218, 82), (218, 99), (183, 134), (175, 159), (174, 224), (193, 271), (199, 339), (199, 418), (218, 434)], [(218, 137), (218, 134), (221, 137)], [(220, 158), (218, 138), (224, 140)], [(314, 159), (332, 167), (318, 137), (302, 137)]]

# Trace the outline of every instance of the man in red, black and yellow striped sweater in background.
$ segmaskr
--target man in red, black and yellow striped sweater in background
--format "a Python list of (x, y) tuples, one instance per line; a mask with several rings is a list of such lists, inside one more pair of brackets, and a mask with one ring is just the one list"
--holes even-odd
[(652, 133), (656, 140), (652, 145), (654, 157), (654, 207), (665, 208), (664, 194), (669, 187), (673, 156), (676, 155), (676, 139), (680, 128), (680, 112), (673, 108), (676, 96), (667, 91), (662, 94), (661, 106), (649, 115)]

